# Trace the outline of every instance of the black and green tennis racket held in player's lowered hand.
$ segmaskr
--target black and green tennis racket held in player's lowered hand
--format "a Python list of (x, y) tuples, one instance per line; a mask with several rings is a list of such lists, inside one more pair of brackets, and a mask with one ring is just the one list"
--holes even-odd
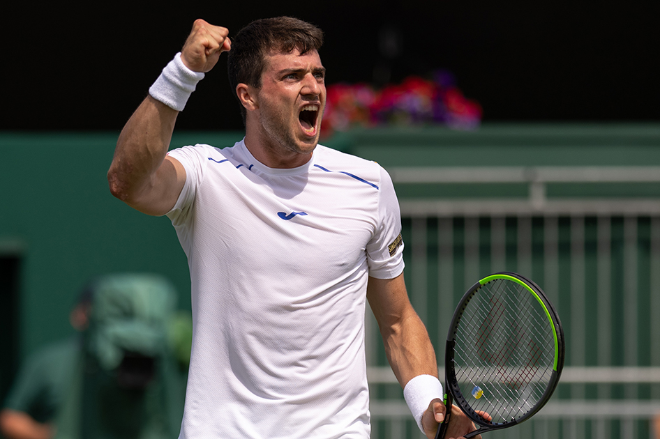
[(436, 439), (447, 433), (452, 400), (478, 426), (465, 438), (506, 429), (541, 410), (557, 387), (564, 367), (562, 324), (537, 284), (498, 272), (463, 295), (444, 358), (447, 413)]

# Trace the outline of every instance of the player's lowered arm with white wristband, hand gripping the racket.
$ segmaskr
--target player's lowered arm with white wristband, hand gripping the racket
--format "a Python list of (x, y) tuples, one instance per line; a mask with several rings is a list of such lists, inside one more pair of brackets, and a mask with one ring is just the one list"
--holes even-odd
[[(437, 394), (442, 392), (437, 381), (435, 351), (426, 327), (410, 304), (403, 274), (394, 279), (370, 277), (367, 299), (380, 328), (387, 360), (405, 389), (406, 401), (411, 410), (418, 412), (413, 415), (423, 433), (433, 439), (446, 409), (440, 400), (442, 395)], [(448, 439), (474, 431), (474, 424), (460, 409), (454, 407), (450, 419)]]

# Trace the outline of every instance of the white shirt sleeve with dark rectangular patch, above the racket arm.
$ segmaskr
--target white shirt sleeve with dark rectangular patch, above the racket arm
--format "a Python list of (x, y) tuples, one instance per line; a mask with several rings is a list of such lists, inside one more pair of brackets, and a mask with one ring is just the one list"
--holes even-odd
[(377, 279), (393, 279), (403, 272), (403, 238), (401, 212), (392, 179), (380, 165), (378, 190), (378, 222), (373, 238), (368, 242), (369, 275)]

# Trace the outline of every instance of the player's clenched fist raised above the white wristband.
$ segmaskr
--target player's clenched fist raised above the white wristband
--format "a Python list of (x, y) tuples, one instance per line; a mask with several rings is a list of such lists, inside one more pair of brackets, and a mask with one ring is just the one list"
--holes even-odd
[(229, 29), (198, 19), (183, 44), (181, 61), (193, 72), (206, 73), (216, 65), (221, 53), (231, 49)]

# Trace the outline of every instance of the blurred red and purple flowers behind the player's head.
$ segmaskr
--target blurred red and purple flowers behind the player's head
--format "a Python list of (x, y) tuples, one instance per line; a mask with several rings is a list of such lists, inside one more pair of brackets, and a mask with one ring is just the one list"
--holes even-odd
[(439, 70), (433, 80), (410, 76), (380, 90), (368, 84), (328, 86), (322, 132), (329, 135), (376, 125), (446, 125), (469, 130), (479, 126), (481, 114), (481, 105), (465, 98), (453, 75)]

